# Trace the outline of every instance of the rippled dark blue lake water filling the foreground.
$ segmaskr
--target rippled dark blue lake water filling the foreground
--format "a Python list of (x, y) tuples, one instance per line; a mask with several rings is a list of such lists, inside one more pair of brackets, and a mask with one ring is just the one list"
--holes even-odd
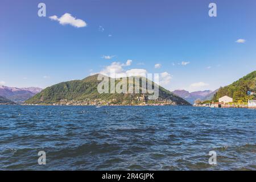
[(252, 109), (0, 106), (1, 170), (256, 170), (255, 141)]

